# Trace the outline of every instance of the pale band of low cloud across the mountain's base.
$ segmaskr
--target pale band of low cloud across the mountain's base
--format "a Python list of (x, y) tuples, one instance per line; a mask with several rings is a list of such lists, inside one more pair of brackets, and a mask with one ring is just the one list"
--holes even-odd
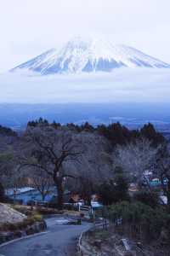
[(117, 69), (113, 73), (0, 75), (0, 103), (170, 102), (169, 69)]

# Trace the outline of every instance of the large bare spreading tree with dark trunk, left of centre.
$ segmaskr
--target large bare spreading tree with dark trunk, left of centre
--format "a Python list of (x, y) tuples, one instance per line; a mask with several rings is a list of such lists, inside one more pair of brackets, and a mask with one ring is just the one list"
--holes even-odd
[(55, 130), (52, 126), (29, 127), (26, 131), (25, 154), (22, 154), (20, 167), (34, 167), (52, 177), (58, 192), (58, 206), (63, 207), (64, 181), (75, 176), (65, 171), (65, 164), (77, 161), (81, 151), (72, 133)]

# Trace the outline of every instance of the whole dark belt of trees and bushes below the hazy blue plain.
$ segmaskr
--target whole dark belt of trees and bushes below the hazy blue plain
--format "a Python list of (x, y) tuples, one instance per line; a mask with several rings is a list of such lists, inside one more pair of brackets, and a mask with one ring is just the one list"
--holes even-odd
[[(65, 189), (87, 204), (97, 194), (115, 231), (150, 244), (158, 239), (167, 247), (170, 152), (153, 125), (129, 131), (119, 123), (94, 128), (39, 119), (20, 135), (3, 129), (0, 139), (1, 201), (8, 200), (5, 189), (28, 184), (41, 192), (42, 200), (54, 185), (59, 209)], [(154, 178), (157, 186), (151, 185)]]

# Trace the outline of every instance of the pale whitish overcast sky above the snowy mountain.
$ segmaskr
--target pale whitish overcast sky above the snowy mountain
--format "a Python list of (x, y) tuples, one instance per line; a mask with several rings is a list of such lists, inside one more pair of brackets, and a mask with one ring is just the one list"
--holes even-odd
[(169, 0), (0, 0), (0, 72), (77, 35), (170, 63), (169, 10)]

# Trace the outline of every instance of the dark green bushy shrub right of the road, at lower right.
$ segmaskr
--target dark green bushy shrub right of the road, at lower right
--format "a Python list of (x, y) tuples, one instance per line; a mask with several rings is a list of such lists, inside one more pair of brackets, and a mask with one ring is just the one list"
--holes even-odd
[(114, 224), (122, 219), (122, 228), (126, 227), (133, 236), (153, 240), (159, 238), (163, 229), (170, 234), (170, 214), (163, 207), (153, 209), (141, 202), (123, 201), (109, 207), (109, 216)]

